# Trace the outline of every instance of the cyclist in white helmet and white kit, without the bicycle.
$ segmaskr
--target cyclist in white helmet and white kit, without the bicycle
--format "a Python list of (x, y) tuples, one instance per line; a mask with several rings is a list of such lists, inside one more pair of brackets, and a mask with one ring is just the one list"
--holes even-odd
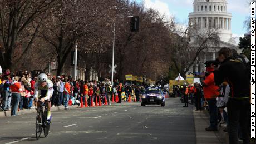
[[(46, 101), (47, 120), (51, 121), (51, 98), (53, 94), (53, 83), (51, 80), (48, 80), (48, 77), (45, 73), (41, 73), (38, 75), (34, 87), (35, 100), (38, 100), (38, 96), (40, 96), (39, 99), (41, 102)], [(40, 104), (40, 102), (37, 102), (37, 108), (40, 107)]]

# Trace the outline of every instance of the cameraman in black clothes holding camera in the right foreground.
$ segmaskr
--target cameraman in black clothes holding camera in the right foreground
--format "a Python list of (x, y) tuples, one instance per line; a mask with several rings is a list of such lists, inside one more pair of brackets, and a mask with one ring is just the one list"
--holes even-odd
[(242, 130), (243, 143), (250, 143), (250, 77), (245, 64), (237, 57), (232, 57), (229, 48), (221, 48), (218, 60), (219, 68), (215, 68), (214, 81), (220, 85), (227, 80), (231, 95), (227, 108), (229, 118), (229, 143), (238, 143), (238, 125)]

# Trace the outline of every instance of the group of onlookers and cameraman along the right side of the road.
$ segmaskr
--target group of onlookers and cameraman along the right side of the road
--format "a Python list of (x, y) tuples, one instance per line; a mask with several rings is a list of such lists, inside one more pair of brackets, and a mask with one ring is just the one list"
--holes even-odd
[[(215, 64), (218, 63), (218, 64)], [(208, 110), (206, 131), (224, 127), (229, 143), (250, 143), (250, 65), (234, 49), (222, 48), (216, 61), (206, 62), (206, 72), (197, 75), (200, 83), (174, 86), (173, 95), (181, 102), (195, 105), (196, 111)]]

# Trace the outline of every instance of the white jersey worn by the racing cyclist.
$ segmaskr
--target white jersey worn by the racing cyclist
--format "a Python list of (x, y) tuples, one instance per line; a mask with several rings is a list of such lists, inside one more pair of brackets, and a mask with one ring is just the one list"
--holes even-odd
[[(41, 95), (40, 98), (45, 98), (45, 100), (50, 100), (53, 94), (53, 83), (51, 80), (46, 81), (45, 87), (42, 87), (40, 81), (36, 81), (35, 85), (35, 91), (34, 91), (34, 97), (37, 98), (38, 95)], [(40, 90), (40, 91), (39, 91)]]

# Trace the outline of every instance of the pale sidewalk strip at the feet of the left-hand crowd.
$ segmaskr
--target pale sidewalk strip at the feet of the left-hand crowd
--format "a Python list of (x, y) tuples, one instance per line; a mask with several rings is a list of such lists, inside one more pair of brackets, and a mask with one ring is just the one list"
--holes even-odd
[[(68, 108), (73, 109), (73, 108), (78, 108), (78, 105), (74, 106), (68, 106)], [(64, 106), (56, 106), (56, 107), (51, 107), (51, 111), (58, 111), (58, 110), (64, 110)], [(35, 109), (23, 109), (21, 111), (18, 111), (18, 115), (24, 115), (28, 113), (36, 113)], [(1, 111), (0, 112), (0, 117), (5, 117), (5, 116), (11, 116), (11, 111)]]

